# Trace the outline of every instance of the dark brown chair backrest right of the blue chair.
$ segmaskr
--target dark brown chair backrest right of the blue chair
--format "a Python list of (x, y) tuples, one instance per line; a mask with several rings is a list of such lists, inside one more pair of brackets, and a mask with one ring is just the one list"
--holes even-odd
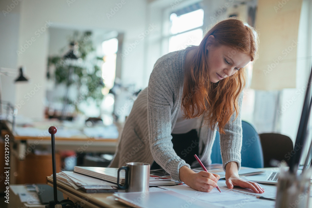
[(272, 159), (289, 162), (294, 152), (292, 140), (283, 134), (279, 133), (261, 133), (260, 135), (264, 167), (273, 167), (270, 164)]

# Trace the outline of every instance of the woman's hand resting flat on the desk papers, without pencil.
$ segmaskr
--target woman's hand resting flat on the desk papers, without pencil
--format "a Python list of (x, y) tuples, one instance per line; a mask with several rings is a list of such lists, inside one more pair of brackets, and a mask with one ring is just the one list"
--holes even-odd
[(242, 188), (249, 188), (257, 194), (262, 194), (264, 192), (264, 189), (256, 182), (245, 181), (236, 174), (228, 177), (226, 180), (226, 184), (227, 188), (229, 189), (233, 189), (234, 186), (240, 186)]

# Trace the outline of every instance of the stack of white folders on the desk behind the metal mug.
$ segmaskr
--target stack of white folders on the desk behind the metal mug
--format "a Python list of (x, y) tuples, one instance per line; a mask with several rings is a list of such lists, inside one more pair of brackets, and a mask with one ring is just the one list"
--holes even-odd
[[(118, 168), (75, 166), (74, 172), (117, 184)], [(124, 181), (125, 181), (125, 172), (120, 171), (119, 184), (124, 184)], [(179, 181), (174, 181), (168, 177), (160, 177), (157, 175), (150, 175), (149, 177), (149, 186), (168, 186), (168, 185), (177, 185), (177, 184), (179, 184)]]

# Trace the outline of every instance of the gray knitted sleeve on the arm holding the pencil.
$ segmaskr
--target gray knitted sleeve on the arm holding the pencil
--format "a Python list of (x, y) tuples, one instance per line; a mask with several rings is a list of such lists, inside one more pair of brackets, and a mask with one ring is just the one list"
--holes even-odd
[(154, 160), (168, 172), (174, 180), (181, 181), (179, 169), (190, 167), (174, 151), (171, 142), (172, 108), (174, 83), (170, 73), (164, 71), (174, 69), (173, 62), (163, 60), (154, 67), (148, 85), (148, 130), (151, 153)]

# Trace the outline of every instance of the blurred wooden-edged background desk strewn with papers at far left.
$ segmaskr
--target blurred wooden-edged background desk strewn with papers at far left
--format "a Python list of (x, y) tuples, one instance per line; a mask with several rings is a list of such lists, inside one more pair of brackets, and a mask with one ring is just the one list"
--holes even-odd
[[(10, 125), (10, 123), (4, 123), (8, 131), (2, 131), (2, 136), (4, 137), (5, 134), (8, 134), (10, 138), (11, 184), (45, 183), (46, 176), (52, 174), (51, 154), (35, 155), (31, 153), (34, 149), (38, 149), (39, 147), (43, 149), (46, 148), (49, 150), (49, 153), (51, 152), (51, 135), (48, 133), (48, 127), (52, 125), (57, 127), (59, 122), (45, 122), (46, 123), (42, 122), (43, 124), (40, 123), (40, 129), (35, 130), (37, 134), (35, 133), (34, 136), (29, 136), (29, 132), (31, 131), (28, 131), (28, 133), (25, 131), (25, 135), (21, 133), (17, 134), (17, 131), (12, 131), (12, 125)], [(32, 130), (32, 128), (30, 130)], [(17, 128), (15, 129), (17, 130)], [(76, 135), (73, 133), (70, 135), (67, 134), (67, 132), (77, 133)], [(115, 138), (91, 138), (82, 132), (78, 132), (78, 130), (71, 131), (65, 128), (62, 131), (62, 129), (59, 128), (58, 132), (55, 134), (56, 152), (71, 150), (76, 153), (102, 152), (114, 154), (118, 142), (117, 137), (118, 134)], [(56, 166), (56, 171), (60, 172), (61, 159), (58, 154), (56, 154)]]

